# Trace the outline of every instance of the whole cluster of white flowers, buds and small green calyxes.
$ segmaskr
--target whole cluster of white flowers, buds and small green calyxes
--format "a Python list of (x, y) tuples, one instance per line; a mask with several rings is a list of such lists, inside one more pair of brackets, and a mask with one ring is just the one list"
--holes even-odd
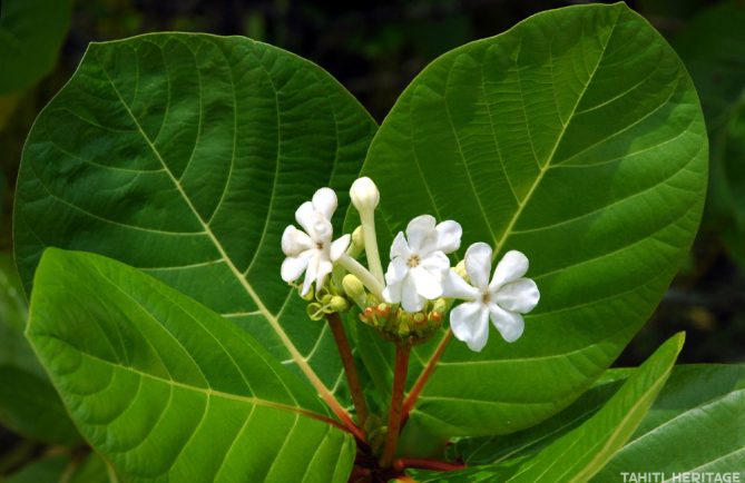
[[(421, 215), (393, 239), (383, 274), (375, 234), (378, 187), (370, 178), (360, 178), (350, 195), (361, 220), (353, 236), (333, 240), (331, 218), (337, 199), (330, 188), (318, 189), (295, 211), (303, 230), (291, 225), (282, 236), (286, 256), (282, 278), (294, 283), (305, 273), (298, 288), (304, 298), (315, 298), (308, 305), (312, 318), (345, 310), (349, 299), (360, 306), (360, 319), (383, 336), (418, 343), (440, 328), (449, 307), (460, 299), (463, 303), (450, 310), (450, 328), (472, 351), (480, 352), (487, 344), (489, 321), (507, 342), (522, 335), (522, 314), (540, 298), (536, 283), (525, 277), (528, 258), (523, 254), (508, 252), (492, 275), (491, 247), (476, 243), (465, 252), (462, 266), (451, 268), (448, 255), (460, 248), (461, 226)], [(356, 260), (362, 250), (367, 267)]]

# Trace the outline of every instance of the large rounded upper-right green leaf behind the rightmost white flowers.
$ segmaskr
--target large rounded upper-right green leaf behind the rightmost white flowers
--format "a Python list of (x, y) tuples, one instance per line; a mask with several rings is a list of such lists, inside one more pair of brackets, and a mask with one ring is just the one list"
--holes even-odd
[(381, 187), (382, 230), (422, 213), (455, 219), (462, 249), (527, 254), (541, 300), (514, 344), (492, 329), (476, 354), (445, 332), (415, 351), (414, 375), (444, 353), (406, 431), (504, 434), (578, 397), (661, 298), (706, 171), (694, 86), (623, 3), (542, 12), (424, 69), (363, 168)]

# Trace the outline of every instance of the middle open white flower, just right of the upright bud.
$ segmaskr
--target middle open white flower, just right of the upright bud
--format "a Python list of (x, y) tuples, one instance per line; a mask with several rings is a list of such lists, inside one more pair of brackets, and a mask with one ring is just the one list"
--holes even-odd
[(460, 247), (463, 230), (458, 223), (434, 224), (429, 215), (418, 216), (406, 226), (406, 237), (399, 231), (391, 246), (383, 297), (391, 304), (401, 303), (406, 312), (419, 312), (427, 299), (442, 295), (442, 284), (450, 270), (445, 254)]

